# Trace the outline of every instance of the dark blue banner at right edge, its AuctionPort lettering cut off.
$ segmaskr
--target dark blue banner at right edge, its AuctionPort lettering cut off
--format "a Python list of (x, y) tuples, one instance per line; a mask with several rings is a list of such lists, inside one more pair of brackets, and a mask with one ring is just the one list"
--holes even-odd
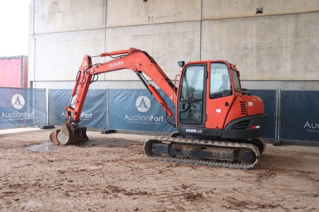
[(319, 91), (280, 92), (279, 140), (319, 142)]

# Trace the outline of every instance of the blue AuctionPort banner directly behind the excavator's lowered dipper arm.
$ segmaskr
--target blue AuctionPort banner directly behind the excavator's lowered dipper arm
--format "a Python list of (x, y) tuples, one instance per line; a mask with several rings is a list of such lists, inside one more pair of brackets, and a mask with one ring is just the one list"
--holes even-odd
[[(49, 89), (48, 123), (61, 125), (65, 118), (64, 107), (68, 106), (72, 90)], [(71, 106), (75, 105), (76, 95)], [(107, 90), (89, 89), (80, 115), (81, 127), (106, 128), (107, 119)]]

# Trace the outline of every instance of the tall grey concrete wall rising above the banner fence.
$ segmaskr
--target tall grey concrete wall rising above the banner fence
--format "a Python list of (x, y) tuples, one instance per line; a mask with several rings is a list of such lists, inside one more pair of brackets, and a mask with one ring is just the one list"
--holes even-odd
[[(171, 79), (179, 60), (223, 59), (248, 88), (318, 89), (318, 11), (318, 0), (33, 0), (29, 81), (72, 88), (85, 54), (136, 47)], [(143, 88), (129, 70), (99, 80), (91, 88)]]

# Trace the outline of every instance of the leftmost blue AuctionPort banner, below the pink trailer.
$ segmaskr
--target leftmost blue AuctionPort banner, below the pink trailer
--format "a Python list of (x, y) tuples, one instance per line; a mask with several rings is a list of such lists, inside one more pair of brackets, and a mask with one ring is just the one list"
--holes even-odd
[(0, 129), (45, 124), (45, 89), (0, 88)]

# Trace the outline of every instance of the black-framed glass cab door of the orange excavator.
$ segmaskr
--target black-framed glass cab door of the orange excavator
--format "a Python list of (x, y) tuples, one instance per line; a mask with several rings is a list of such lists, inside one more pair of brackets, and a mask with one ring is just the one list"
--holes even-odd
[(189, 64), (181, 76), (178, 126), (205, 127), (207, 64)]

